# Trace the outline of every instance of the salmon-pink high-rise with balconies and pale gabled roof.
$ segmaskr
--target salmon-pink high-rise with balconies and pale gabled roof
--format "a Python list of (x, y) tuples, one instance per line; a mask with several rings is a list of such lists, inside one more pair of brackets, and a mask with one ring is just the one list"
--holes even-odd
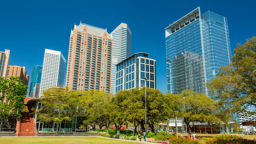
[(111, 89), (111, 35), (106, 29), (80, 23), (69, 40), (66, 85), (70, 90)]

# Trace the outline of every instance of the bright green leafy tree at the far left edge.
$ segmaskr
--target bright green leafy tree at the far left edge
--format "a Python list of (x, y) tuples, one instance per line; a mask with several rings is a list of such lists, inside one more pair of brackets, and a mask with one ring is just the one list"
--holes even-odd
[(27, 93), (28, 86), (22, 83), (20, 77), (0, 77), (0, 115), (1, 128), (4, 120), (11, 116), (21, 117), (21, 112), (26, 107), (24, 105), (24, 94)]

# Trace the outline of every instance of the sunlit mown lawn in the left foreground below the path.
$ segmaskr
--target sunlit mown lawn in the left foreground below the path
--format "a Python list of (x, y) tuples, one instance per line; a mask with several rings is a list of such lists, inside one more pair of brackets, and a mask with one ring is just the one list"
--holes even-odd
[(137, 142), (122, 141), (121, 139), (106, 139), (99, 137), (1, 137), (2, 144), (116, 144), (128, 143), (137, 144)]

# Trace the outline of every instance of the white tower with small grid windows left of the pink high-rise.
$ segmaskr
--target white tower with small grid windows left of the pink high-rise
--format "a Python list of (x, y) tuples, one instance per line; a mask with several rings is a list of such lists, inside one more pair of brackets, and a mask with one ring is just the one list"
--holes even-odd
[(49, 87), (64, 86), (65, 67), (66, 59), (61, 52), (45, 49), (39, 96)]

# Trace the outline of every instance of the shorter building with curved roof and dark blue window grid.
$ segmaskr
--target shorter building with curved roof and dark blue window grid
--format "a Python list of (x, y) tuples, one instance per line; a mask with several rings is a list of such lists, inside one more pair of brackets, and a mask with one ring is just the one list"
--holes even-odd
[(148, 53), (135, 53), (116, 65), (116, 89), (127, 90), (146, 86), (156, 88), (156, 60)]

